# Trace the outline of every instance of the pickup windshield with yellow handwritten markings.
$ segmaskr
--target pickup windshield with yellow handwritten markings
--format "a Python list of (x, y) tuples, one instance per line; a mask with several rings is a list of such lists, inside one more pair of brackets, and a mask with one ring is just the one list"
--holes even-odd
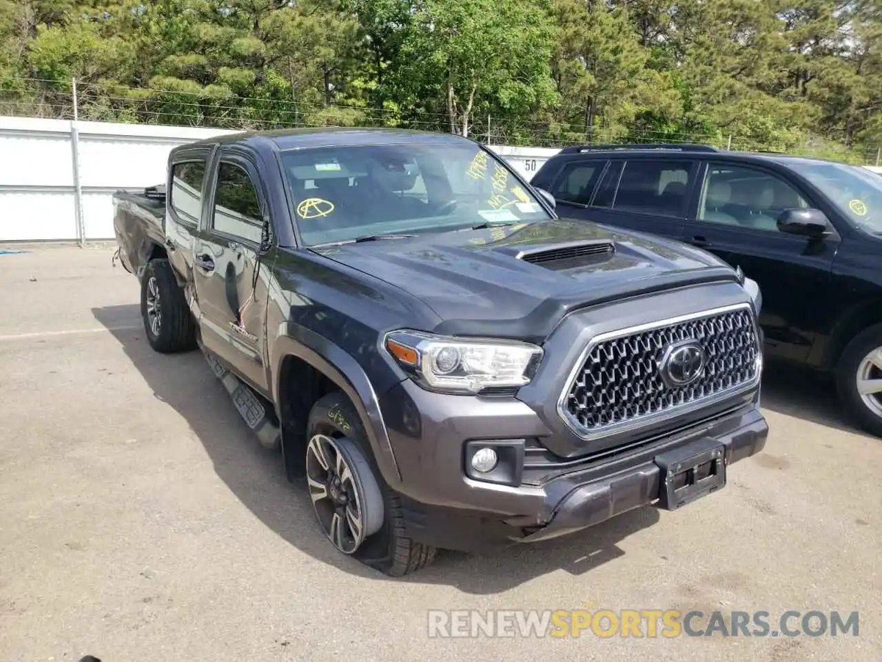
[(292, 150), (281, 162), (308, 246), (550, 218), (511, 170), (465, 140)]

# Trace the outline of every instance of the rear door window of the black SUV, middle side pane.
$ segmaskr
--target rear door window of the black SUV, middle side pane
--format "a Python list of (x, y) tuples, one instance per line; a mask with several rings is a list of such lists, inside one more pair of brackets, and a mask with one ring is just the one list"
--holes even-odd
[(692, 164), (683, 161), (628, 161), (618, 182), (613, 209), (682, 216)]

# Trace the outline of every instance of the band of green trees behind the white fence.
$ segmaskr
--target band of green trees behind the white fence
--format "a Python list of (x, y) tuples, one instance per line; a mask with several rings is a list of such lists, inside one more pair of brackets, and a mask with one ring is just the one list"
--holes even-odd
[(879, 0), (0, 0), (0, 113), (857, 158), (880, 49)]

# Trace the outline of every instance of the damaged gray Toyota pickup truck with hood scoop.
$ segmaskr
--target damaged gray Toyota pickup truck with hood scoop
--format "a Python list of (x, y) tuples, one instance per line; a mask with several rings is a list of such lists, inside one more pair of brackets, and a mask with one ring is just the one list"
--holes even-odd
[(680, 508), (766, 442), (755, 283), (558, 218), (473, 141), (229, 135), (115, 205), (153, 349), (201, 348), (328, 540), (388, 575)]

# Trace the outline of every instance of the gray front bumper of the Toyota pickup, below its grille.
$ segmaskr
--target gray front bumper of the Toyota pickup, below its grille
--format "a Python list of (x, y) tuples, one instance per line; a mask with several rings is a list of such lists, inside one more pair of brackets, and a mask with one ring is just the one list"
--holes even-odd
[(429, 394), (406, 381), (381, 398), (381, 407), (401, 471), (408, 535), (426, 545), (475, 552), (556, 538), (656, 503), (663, 486), (656, 461), (672, 450), (709, 441), (721, 448), (727, 468), (759, 453), (768, 425), (758, 402), (756, 391), (714, 418), (618, 454), (575, 458), (519, 485), (468, 478), (464, 448), (489, 430), (497, 440), (547, 436), (542, 418), (523, 402), (469, 399), (464, 406), (458, 396)]

